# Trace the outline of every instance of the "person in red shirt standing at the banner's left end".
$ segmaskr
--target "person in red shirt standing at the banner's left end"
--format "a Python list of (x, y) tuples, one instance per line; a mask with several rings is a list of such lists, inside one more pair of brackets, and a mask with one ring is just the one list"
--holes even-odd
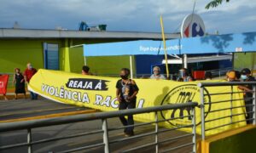
[[(26, 65), (26, 70), (24, 72), (24, 78), (27, 83), (31, 80), (31, 78), (37, 73), (37, 70), (32, 67), (31, 63), (28, 63)], [(38, 99), (38, 94), (35, 94), (33, 92), (30, 92), (31, 99)]]

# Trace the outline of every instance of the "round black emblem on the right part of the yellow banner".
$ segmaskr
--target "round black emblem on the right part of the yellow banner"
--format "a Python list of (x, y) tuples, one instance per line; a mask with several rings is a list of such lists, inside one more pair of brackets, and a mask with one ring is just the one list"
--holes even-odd
[[(208, 91), (205, 89), (205, 94), (207, 94), (204, 97), (204, 100), (206, 103), (209, 103), (209, 105), (205, 105), (205, 110), (210, 111), (211, 110), (211, 97), (208, 95)], [(197, 102), (200, 105), (200, 88), (198, 88), (195, 84), (186, 84), (182, 86), (178, 86), (177, 88), (173, 88), (170, 92), (166, 94), (164, 99), (161, 102), (161, 105), (174, 105), (174, 104), (184, 104), (184, 103), (191, 103), (191, 102)], [(201, 121), (199, 120), (201, 118), (201, 115), (199, 112), (199, 108), (196, 109), (196, 122), (197, 124), (200, 124)], [(169, 120), (170, 124), (173, 126), (185, 126), (191, 124), (192, 115), (191, 114), (191, 108), (180, 108), (180, 109), (174, 109), (172, 111), (161, 111), (161, 116), (164, 119), (170, 119), (170, 118), (177, 118), (175, 120)], [(184, 117), (186, 116), (186, 117)], [(205, 115), (207, 117), (207, 114)]]

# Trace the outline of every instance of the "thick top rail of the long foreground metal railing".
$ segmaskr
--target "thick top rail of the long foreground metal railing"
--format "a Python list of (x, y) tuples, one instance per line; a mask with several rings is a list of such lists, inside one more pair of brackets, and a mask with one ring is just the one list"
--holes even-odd
[(34, 127), (46, 127), (51, 125), (60, 125), (60, 124), (72, 123), (72, 122), (84, 122), (84, 121), (91, 121), (91, 120), (97, 120), (97, 119), (113, 118), (118, 116), (143, 114), (143, 113), (154, 112), (154, 111), (166, 111), (166, 110), (172, 110), (172, 109), (178, 109), (178, 108), (195, 107), (197, 105), (198, 105), (197, 103), (191, 102), (186, 104), (160, 105), (160, 106), (146, 107), (141, 109), (98, 112), (93, 114), (82, 114), (82, 115), (76, 115), (76, 116), (61, 116), (61, 117), (54, 117), (54, 118), (48, 118), (48, 119), (24, 121), (24, 122), (4, 122), (4, 123), (0, 123), (0, 132), (21, 130), (21, 129), (34, 128)]

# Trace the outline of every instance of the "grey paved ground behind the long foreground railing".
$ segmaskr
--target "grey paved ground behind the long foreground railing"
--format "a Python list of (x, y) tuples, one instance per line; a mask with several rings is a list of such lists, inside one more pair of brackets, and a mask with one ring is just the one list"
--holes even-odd
[[(28, 116), (41, 116), (45, 114), (60, 113), (67, 111), (80, 111), (85, 110), (85, 108), (79, 108), (71, 105), (63, 105), (55, 103), (46, 99), (30, 100), (30, 99), (19, 99), (19, 100), (9, 100), (0, 101), (0, 121), (28, 117)], [(84, 133), (93, 131), (96, 129), (101, 129), (102, 121), (90, 121), (90, 122), (77, 122), (65, 125), (51, 126), (51, 127), (40, 127), (32, 129), (32, 140), (47, 139), (52, 137), (61, 137), (67, 134), (74, 133)], [(108, 126), (119, 127), (121, 126), (118, 118), (108, 119)], [(153, 125), (147, 125), (143, 127), (136, 127), (136, 135), (142, 133), (154, 132)], [(180, 131), (172, 131), (167, 133), (160, 133), (160, 140), (170, 139), (182, 134), (186, 134)], [(116, 130), (109, 132), (110, 141), (113, 139), (123, 139), (125, 138), (123, 130)], [(180, 144), (190, 143), (192, 138), (186, 137), (184, 139), (174, 140), (166, 144), (160, 144), (160, 150), (168, 149)], [(20, 130), (15, 132), (0, 133), (0, 145), (3, 144), (17, 144), (26, 142), (26, 130)], [(73, 139), (63, 139), (58, 141), (52, 141), (44, 144), (35, 144), (32, 146), (33, 152), (44, 153), (44, 152), (58, 152), (61, 150), (70, 150), (88, 144), (97, 144), (102, 142), (102, 133), (92, 134), (88, 136), (81, 136)], [(124, 142), (118, 142), (110, 144), (110, 149), (112, 152), (121, 152), (125, 149), (131, 149), (136, 146), (143, 144), (153, 143), (154, 135), (146, 136), (139, 139), (126, 140)], [(191, 152), (192, 146), (184, 147), (180, 150), (175, 150), (174, 152)], [(13, 150), (0, 150), (3, 153), (23, 153), (27, 152), (26, 147), (20, 147)], [(79, 150), (76, 152), (103, 152), (103, 148), (99, 147), (91, 150)], [(137, 152), (154, 152), (154, 147), (147, 147), (143, 150)], [(173, 151), (172, 151), (173, 152)]]

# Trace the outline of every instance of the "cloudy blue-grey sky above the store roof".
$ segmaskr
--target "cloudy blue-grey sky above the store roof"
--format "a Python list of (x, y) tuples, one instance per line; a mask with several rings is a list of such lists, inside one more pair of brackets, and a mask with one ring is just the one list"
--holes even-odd
[[(212, 33), (256, 31), (256, 1), (230, 0), (218, 8), (205, 9), (209, 0), (196, 0), (206, 30)], [(0, 0), (0, 27), (77, 30), (84, 20), (89, 26), (108, 25), (108, 31), (160, 31), (160, 14), (166, 32), (177, 32), (192, 12), (194, 0)]]

